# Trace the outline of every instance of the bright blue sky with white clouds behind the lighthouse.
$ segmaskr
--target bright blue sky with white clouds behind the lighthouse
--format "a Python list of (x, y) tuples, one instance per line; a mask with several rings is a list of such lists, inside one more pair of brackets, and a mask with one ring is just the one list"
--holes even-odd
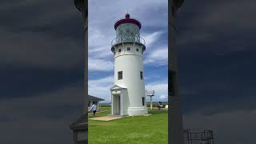
[(110, 102), (110, 87), (114, 86), (114, 55), (110, 50), (110, 42), (115, 38), (114, 22), (118, 18), (124, 18), (127, 10), (130, 17), (142, 22), (141, 37), (146, 41), (143, 58), (146, 90), (155, 90), (153, 101), (167, 101), (166, 0), (89, 1), (89, 94)]

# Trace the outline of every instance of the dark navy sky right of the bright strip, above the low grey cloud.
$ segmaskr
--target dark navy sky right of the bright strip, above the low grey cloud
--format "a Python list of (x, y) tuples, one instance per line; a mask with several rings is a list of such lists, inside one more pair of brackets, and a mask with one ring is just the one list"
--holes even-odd
[[(254, 4), (187, 1), (182, 6), (176, 22), (180, 90), (191, 92), (182, 95), (186, 110), (208, 105), (234, 109), (243, 99), (253, 98), (256, 21), (250, 18), (256, 14)], [(249, 105), (242, 102), (237, 107), (254, 107)]]

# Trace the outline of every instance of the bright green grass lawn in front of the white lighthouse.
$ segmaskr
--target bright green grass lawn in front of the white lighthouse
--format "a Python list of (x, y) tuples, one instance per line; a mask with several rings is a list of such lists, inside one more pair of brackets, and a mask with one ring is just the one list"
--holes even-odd
[[(110, 114), (110, 107), (100, 109), (108, 111), (96, 113), (96, 117)], [(149, 114), (152, 115), (126, 117), (109, 122), (89, 120), (89, 143), (167, 143), (168, 111), (149, 110)]]

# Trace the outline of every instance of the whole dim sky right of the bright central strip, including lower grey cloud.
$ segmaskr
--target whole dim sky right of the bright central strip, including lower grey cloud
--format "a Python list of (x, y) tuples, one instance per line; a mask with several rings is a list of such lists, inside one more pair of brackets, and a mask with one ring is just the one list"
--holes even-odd
[(256, 2), (185, 1), (176, 19), (185, 128), (214, 143), (255, 143)]

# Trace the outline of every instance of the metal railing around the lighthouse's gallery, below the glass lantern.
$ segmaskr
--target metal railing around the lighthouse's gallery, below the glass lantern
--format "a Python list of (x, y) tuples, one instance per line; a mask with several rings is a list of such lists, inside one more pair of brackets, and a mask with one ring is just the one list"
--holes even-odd
[(142, 43), (145, 46), (145, 40), (142, 37), (139, 36), (135, 36), (135, 37), (117, 37), (114, 38), (111, 42), (111, 45), (114, 46), (118, 43), (122, 43), (122, 42), (138, 42), (138, 43)]

